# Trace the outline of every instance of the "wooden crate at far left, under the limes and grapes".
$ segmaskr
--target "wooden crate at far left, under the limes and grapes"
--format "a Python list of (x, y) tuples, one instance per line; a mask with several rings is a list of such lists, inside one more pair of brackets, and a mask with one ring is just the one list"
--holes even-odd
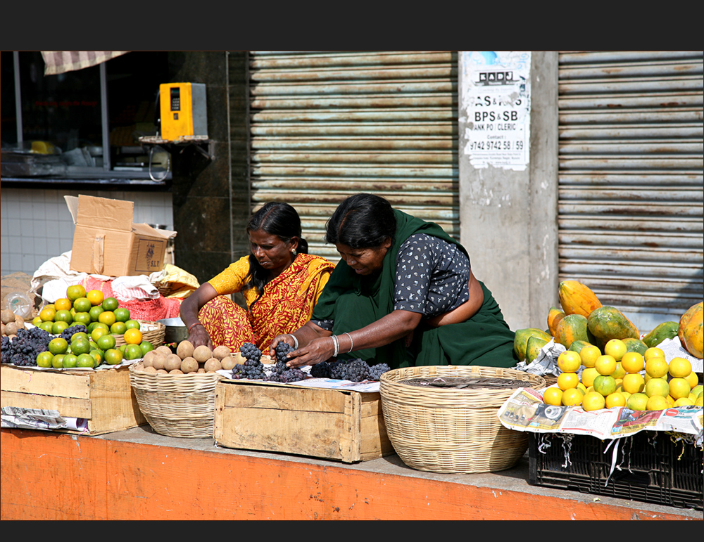
[[(127, 366), (91, 371), (47, 371), (0, 367), (1, 406), (56, 410), (67, 418), (84, 418), (88, 434), (145, 425)], [(74, 430), (60, 430), (80, 433)]]

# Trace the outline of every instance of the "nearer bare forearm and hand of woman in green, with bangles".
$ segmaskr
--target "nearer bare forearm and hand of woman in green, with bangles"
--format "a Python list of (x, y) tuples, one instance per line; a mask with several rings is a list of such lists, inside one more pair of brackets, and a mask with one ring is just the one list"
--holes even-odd
[[(339, 342), (338, 354), (346, 354), (348, 351), (351, 351), (351, 349), (363, 350), (365, 348), (378, 348), (385, 344), (390, 344), (415, 330), (422, 316), (422, 314), (417, 312), (393, 311), (379, 318), (376, 322), (366, 325), (364, 328), (351, 331), (349, 335), (346, 333), (337, 335)], [(305, 328), (306, 325), (304, 325), (303, 328)], [(315, 327), (317, 328), (318, 326)], [(314, 365), (321, 361), (327, 361), (332, 357), (335, 351), (335, 343), (332, 338), (330, 338), (332, 333), (326, 332), (327, 335), (318, 335), (318, 337), (312, 338), (312, 340), (309, 340), (306, 344), (302, 344), (301, 336), (298, 335), (298, 331), (294, 333), (296, 337), (298, 337), (298, 350), (289, 354), (290, 360), (287, 366), (301, 367), (304, 365)], [(311, 336), (306, 335), (306, 338), (308, 337)]]

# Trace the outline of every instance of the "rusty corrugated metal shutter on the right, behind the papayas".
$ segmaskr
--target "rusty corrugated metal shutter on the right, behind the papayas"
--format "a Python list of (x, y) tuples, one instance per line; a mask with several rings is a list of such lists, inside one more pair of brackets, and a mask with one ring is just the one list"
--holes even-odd
[(703, 297), (702, 51), (559, 56), (560, 280), (641, 330)]

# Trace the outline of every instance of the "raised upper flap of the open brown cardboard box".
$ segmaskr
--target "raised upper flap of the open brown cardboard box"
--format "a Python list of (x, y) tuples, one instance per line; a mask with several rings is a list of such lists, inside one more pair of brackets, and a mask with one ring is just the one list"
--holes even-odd
[(134, 203), (90, 195), (64, 196), (73, 223), (106, 230), (132, 231)]

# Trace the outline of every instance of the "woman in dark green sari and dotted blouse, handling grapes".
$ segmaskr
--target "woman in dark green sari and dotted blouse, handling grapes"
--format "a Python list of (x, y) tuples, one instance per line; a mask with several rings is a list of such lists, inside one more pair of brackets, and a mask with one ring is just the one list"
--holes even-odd
[(353, 195), (327, 222), (341, 256), (310, 321), (272, 342), (288, 365), (361, 358), (413, 365), (513, 367), (514, 333), (465, 248), (432, 222)]

